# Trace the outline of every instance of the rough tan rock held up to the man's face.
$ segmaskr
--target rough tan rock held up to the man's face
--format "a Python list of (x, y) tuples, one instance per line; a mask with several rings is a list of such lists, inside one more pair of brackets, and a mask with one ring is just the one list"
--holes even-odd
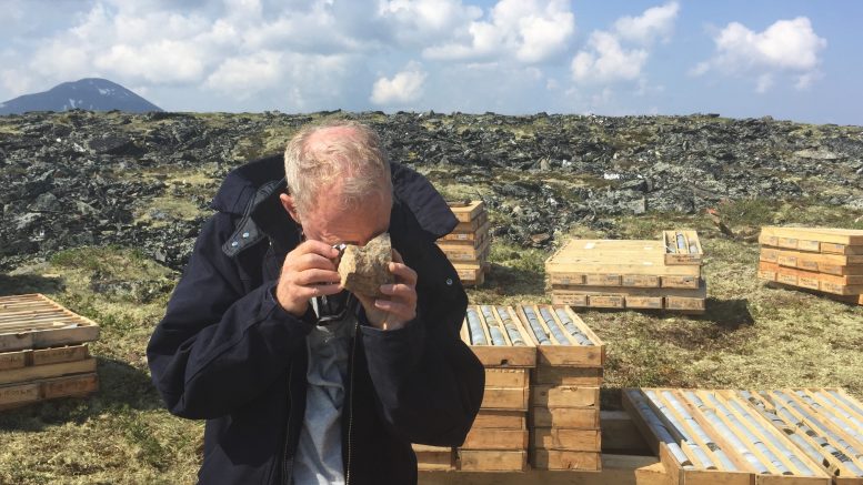
[(339, 275), (344, 289), (365, 296), (383, 296), (382, 284), (393, 283), (390, 273), (392, 244), (390, 234), (383, 233), (364, 246), (349, 244), (339, 262)]

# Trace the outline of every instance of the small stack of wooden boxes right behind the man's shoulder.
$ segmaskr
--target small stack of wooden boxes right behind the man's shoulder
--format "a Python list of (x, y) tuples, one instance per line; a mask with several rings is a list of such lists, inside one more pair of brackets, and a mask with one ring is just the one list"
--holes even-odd
[(491, 246), (491, 223), (485, 204), (482, 201), (449, 204), (459, 220), (459, 225), (453, 232), (438, 240), (438, 246), (446, 254), (463, 284), (479, 286), (485, 281)]

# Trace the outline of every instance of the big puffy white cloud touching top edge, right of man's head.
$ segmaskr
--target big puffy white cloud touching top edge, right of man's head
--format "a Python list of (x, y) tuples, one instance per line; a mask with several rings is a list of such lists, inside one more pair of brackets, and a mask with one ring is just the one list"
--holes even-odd
[(500, 0), (489, 21), (472, 21), (464, 39), (431, 46), (434, 60), (490, 61), (514, 58), (541, 63), (562, 54), (575, 33), (575, 16), (564, 0)]

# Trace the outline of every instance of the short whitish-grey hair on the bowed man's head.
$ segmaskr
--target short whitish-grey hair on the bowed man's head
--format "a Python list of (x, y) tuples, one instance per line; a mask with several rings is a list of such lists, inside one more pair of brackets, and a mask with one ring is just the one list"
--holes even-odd
[[(348, 128), (351, 134), (310, 145), (313, 134), (333, 128)], [(355, 209), (370, 196), (387, 200), (392, 195), (390, 162), (381, 140), (355, 121), (330, 121), (300, 130), (284, 150), (284, 178), (300, 212), (312, 209), (320, 196), (339, 195), (342, 209)], [(341, 190), (330, 193), (337, 183)]]

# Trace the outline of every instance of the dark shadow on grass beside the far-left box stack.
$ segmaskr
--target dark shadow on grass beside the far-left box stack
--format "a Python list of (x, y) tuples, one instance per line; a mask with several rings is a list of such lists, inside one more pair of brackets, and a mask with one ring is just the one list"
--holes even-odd
[(124, 362), (98, 357), (99, 391), (89, 397), (64, 397), (0, 412), (0, 430), (42, 431), (66, 423), (82, 424), (110, 412), (162, 407), (150, 375)]

